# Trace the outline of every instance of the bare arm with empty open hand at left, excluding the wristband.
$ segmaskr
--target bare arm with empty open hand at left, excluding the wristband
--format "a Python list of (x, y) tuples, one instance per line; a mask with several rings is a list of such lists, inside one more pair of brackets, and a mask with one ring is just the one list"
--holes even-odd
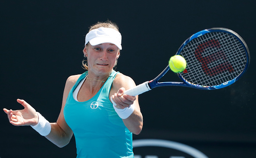
[[(70, 76), (67, 79), (59, 118), (56, 123), (50, 123), (51, 131), (47, 136), (45, 136), (58, 147), (66, 146), (73, 135), (71, 128), (64, 119), (63, 110), (66, 104), (66, 99), (69, 95), (69, 91), (75, 85), (75, 82), (78, 80), (79, 76), (80, 75)], [(12, 111), (7, 110), (6, 108), (3, 109), (3, 111), (8, 115), (9, 122), (15, 126), (36, 125), (38, 123), (38, 116), (35, 109), (24, 100), (17, 99), (17, 102), (24, 106), (23, 110)]]

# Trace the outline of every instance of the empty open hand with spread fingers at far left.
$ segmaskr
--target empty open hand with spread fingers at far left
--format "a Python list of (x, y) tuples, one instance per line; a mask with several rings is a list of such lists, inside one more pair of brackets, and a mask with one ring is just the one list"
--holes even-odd
[(29, 126), (36, 125), (38, 123), (38, 115), (36, 110), (29, 105), (27, 102), (21, 99), (17, 99), (22, 106), (23, 110), (7, 110), (6, 108), (3, 111), (8, 115), (9, 122), (14, 126)]

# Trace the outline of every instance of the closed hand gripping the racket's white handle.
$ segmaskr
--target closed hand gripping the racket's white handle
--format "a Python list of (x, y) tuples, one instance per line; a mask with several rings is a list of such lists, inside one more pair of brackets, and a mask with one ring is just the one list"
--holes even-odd
[(125, 88), (120, 88), (117, 93), (112, 95), (112, 100), (116, 103), (116, 108), (126, 108), (133, 104), (136, 97), (135, 96), (128, 96), (124, 94)]

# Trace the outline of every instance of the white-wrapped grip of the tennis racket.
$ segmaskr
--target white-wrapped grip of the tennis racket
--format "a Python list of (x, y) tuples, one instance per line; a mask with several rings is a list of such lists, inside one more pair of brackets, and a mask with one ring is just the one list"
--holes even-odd
[(139, 84), (134, 88), (131, 88), (129, 90), (126, 90), (124, 94), (127, 94), (129, 96), (137, 96), (141, 93), (147, 92), (151, 90), (151, 88), (149, 87), (148, 81), (144, 82), (143, 84)]

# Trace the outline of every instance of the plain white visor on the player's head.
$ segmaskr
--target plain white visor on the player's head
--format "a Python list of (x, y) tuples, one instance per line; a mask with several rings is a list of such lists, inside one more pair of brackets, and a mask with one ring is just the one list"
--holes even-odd
[(119, 31), (112, 28), (97, 28), (91, 30), (85, 37), (85, 45), (90, 42), (92, 46), (96, 46), (101, 43), (112, 43), (115, 44), (120, 50), (122, 36)]

